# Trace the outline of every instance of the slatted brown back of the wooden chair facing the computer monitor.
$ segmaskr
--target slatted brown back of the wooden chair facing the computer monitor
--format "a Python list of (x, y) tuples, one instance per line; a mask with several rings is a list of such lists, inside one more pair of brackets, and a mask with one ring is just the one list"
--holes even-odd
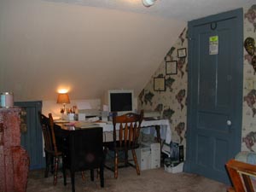
[[(120, 116), (113, 116), (114, 145), (127, 149), (137, 148), (142, 121), (143, 111), (140, 114), (126, 113)], [(117, 138), (117, 128), (119, 128), (119, 138)]]

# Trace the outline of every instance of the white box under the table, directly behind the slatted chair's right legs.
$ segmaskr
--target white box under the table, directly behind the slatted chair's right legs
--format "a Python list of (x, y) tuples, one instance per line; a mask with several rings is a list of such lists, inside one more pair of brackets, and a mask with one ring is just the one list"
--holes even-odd
[[(151, 148), (145, 145), (140, 146), (135, 150), (137, 156), (137, 163), (140, 167), (140, 170), (147, 170), (151, 169)], [(132, 157), (131, 150), (128, 152), (128, 158), (131, 161), (132, 165), (135, 165)]]

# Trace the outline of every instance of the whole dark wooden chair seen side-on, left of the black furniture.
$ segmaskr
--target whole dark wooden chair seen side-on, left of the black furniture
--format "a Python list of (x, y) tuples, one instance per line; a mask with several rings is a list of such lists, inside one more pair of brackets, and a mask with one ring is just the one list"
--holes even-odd
[(59, 157), (62, 155), (58, 150), (55, 141), (54, 121), (51, 113), (49, 118), (42, 113), (38, 113), (43, 135), (44, 135), (44, 152), (45, 152), (45, 172), (44, 177), (48, 177), (49, 166), (54, 173), (54, 185), (57, 183), (57, 174), (59, 167)]

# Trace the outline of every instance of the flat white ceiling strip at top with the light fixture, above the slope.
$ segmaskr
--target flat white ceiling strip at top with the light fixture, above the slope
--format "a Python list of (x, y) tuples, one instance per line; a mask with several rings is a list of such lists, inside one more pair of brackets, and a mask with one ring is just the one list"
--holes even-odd
[(156, 0), (153, 6), (144, 7), (142, 0), (46, 0), (59, 3), (75, 3), (84, 6), (118, 9), (177, 20), (195, 20), (207, 15), (237, 9), (255, 0)]

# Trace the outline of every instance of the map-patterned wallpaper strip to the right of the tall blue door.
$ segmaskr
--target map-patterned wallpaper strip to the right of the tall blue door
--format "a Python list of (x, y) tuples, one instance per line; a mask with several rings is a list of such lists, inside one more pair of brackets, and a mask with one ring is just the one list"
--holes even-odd
[(244, 8), (243, 115), (241, 150), (256, 152), (256, 4)]

